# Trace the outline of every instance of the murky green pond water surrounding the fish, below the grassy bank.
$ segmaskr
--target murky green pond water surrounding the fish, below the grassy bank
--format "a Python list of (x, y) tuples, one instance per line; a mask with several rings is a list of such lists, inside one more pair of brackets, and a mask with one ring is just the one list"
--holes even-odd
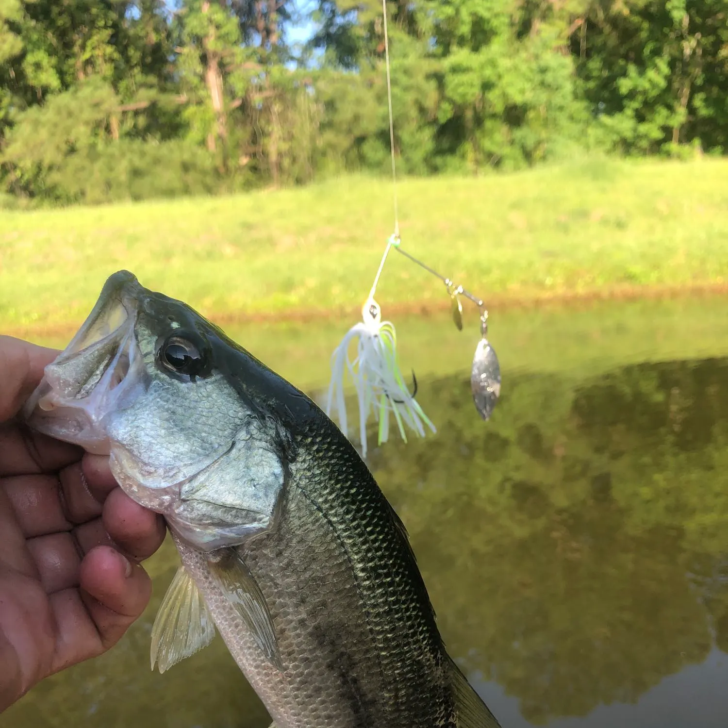
[[(392, 440), (371, 467), (451, 654), (503, 728), (728, 724), (726, 304), (495, 318), (504, 393), (488, 424), (470, 401), (475, 326), (397, 322), (438, 435)], [(342, 332), (232, 333), (315, 388)], [(149, 671), (168, 542), (149, 569), (154, 600), (122, 643), (41, 684), (0, 728), (267, 728), (219, 638)]]

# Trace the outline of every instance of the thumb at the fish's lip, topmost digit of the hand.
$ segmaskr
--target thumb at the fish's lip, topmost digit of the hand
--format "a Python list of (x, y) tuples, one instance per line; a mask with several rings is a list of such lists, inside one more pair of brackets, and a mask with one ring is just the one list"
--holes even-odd
[(0, 422), (17, 414), (58, 353), (13, 336), (0, 336)]

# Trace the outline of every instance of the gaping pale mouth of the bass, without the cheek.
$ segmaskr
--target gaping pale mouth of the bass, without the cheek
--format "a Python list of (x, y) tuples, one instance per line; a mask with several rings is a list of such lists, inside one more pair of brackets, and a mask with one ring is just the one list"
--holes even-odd
[(106, 417), (146, 379), (134, 333), (143, 291), (127, 271), (108, 278), (84, 325), (25, 403), (23, 416), (34, 430), (109, 453)]

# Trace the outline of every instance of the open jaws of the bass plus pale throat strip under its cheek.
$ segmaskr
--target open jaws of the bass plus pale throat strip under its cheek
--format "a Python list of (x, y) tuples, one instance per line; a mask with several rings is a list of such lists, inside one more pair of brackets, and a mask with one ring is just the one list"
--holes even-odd
[(165, 513), (178, 501), (182, 483), (207, 463), (159, 472), (114, 441), (115, 419), (150, 386), (135, 337), (145, 293), (127, 271), (108, 278), (82, 327), (46, 366), (23, 416), (33, 430), (111, 456), (111, 472), (122, 489), (144, 507)]

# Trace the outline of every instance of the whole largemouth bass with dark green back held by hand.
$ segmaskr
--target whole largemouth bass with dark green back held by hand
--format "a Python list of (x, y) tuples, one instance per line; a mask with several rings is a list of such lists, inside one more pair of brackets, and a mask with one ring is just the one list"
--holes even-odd
[(302, 392), (125, 271), (50, 364), (31, 427), (108, 454), (182, 566), (164, 671), (215, 625), (277, 728), (494, 728), (448, 657), (405, 529)]

